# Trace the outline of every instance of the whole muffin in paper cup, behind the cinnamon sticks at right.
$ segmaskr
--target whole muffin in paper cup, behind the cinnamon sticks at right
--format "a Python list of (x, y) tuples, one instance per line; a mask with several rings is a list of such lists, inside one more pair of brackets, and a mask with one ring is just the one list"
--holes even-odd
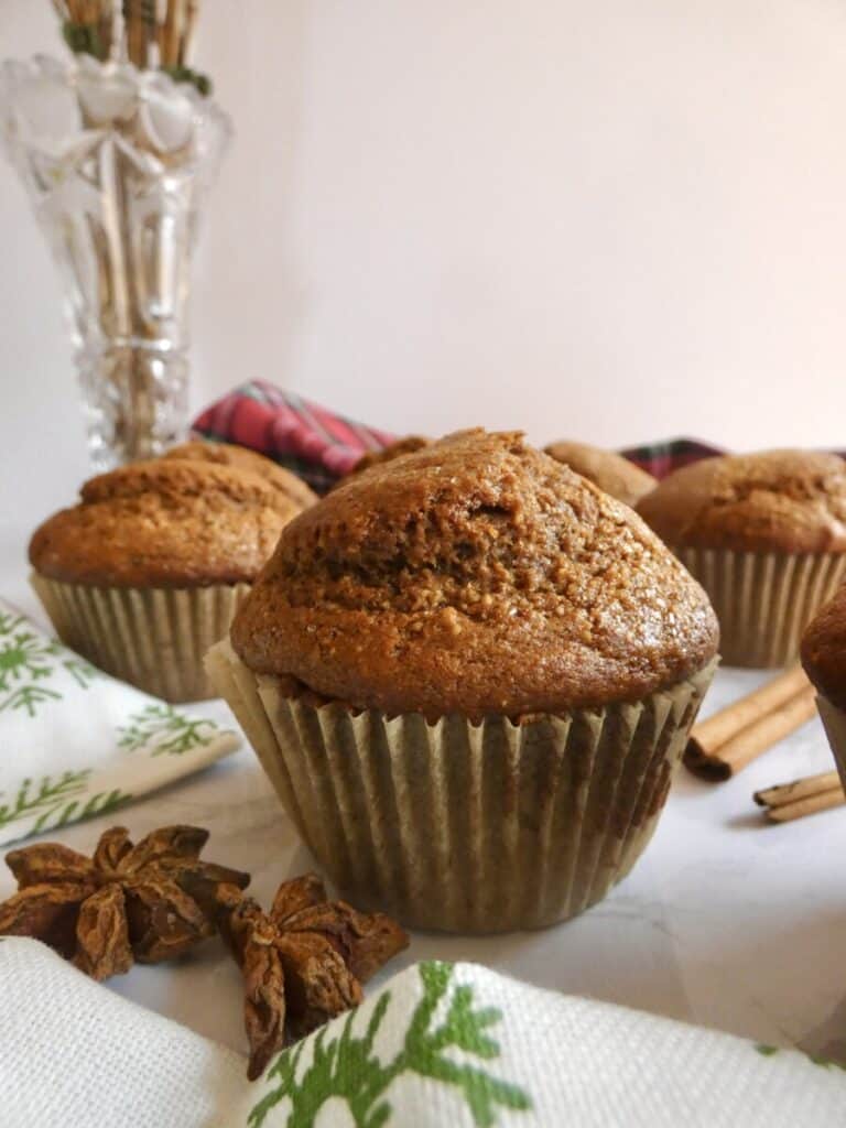
[(668, 475), (637, 512), (705, 588), (730, 666), (794, 661), (846, 575), (846, 464), (768, 450)]

